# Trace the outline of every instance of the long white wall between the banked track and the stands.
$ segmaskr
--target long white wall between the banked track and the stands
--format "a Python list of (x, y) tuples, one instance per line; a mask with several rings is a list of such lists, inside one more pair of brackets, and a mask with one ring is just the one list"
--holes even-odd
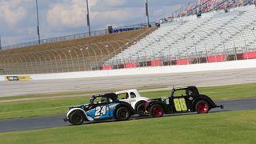
[(27, 80), (47, 80), (47, 79), (66, 79), (66, 78), (96, 78), (96, 77), (110, 77), (110, 76), (124, 76), (124, 75), (138, 75), (138, 74), (167, 74), (167, 73), (186, 73), (197, 71), (210, 71), (210, 70), (232, 70), (232, 69), (246, 69), (256, 68), (256, 59), (230, 61), (230, 62), (214, 62), (202, 63), (192, 65), (179, 65), (179, 66), (154, 66), (154, 67), (138, 67), (120, 70), (97, 70), (97, 71), (84, 71), (84, 72), (70, 72), (58, 74), (26, 74), (26, 75), (0, 75), (0, 81), (8, 81), (14, 78), (24, 78), (22, 81)]

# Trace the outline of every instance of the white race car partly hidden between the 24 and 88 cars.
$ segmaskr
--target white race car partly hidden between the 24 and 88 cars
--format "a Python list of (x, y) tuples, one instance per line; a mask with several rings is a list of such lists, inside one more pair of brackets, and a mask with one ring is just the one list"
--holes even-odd
[(150, 98), (142, 97), (138, 90), (122, 90), (115, 94), (118, 94), (119, 101), (129, 103), (140, 116), (145, 115), (144, 103)]

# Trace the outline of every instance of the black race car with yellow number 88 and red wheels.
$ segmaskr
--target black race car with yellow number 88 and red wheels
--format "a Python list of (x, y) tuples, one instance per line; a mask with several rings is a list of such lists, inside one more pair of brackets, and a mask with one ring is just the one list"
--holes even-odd
[(197, 112), (198, 114), (208, 113), (210, 109), (217, 106), (211, 98), (199, 94), (196, 86), (187, 86), (171, 90), (169, 98), (156, 98), (145, 103), (145, 114), (152, 117), (162, 117), (163, 114), (176, 114)]

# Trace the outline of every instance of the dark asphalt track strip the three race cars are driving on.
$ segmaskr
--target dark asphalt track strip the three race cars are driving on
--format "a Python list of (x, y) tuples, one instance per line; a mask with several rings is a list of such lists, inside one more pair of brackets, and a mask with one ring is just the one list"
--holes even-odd
[[(249, 110), (256, 109), (256, 98), (239, 99), (231, 101), (217, 102), (218, 105), (224, 105), (224, 109), (213, 109), (210, 112), (222, 112), (229, 110)], [(166, 116), (171, 116), (175, 114), (170, 114)], [(177, 114), (176, 114), (177, 115)], [(18, 131), (18, 130), (37, 130), (45, 128), (53, 128), (58, 126), (69, 126), (68, 122), (63, 122), (64, 115), (54, 115), (54, 116), (43, 116), (37, 118), (16, 118), (10, 120), (0, 121), (0, 133)], [(140, 118), (130, 118), (130, 119), (140, 119)], [(85, 122), (86, 124), (92, 122)]]

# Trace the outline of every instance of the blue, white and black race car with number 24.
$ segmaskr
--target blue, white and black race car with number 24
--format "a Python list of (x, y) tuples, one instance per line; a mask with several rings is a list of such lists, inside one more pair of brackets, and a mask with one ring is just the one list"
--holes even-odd
[(134, 113), (134, 109), (127, 102), (118, 101), (117, 94), (95, 94), (90, 98), (90, 103), (71, 106), (64, 121), (73, 125), (81, 125), (84, 121), (94, 122), (113, 118), (124, 121)]

